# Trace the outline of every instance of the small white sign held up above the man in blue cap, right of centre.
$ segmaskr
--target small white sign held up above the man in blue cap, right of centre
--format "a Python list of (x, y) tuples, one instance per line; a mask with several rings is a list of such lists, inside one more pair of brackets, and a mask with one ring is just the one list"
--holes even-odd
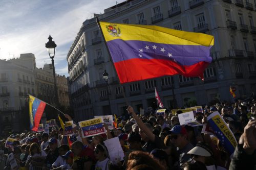
[(202, 124), (196, 122), (193, 111), (178, 114), (178, 117), (180, 125), (188, 125), (191, 127), (202, 126)]

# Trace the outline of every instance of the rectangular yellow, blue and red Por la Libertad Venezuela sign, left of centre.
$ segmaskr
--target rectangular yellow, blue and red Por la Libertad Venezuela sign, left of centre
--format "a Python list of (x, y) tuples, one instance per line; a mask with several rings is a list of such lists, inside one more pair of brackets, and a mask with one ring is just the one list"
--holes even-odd
[(84, 120), (78, 124), (82, 129), (83, 138), (105, 133), (102, 117)]

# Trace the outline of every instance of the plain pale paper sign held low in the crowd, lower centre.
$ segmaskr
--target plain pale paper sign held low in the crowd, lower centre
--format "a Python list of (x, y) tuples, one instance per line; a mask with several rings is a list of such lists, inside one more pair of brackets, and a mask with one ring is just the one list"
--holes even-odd
[(108, 148), (110, 160), (115, 164), (122, 161), (124, 154), (118, 137), (114, 137), (104, 141), (106, 148)]

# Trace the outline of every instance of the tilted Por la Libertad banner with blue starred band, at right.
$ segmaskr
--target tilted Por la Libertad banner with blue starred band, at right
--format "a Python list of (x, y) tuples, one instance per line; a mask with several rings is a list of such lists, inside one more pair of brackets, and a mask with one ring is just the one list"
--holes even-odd
[(231, 155), (238, 143), (232, 131), (227, 126), (225, 120), (221, 117), (219, 112), (214, 112), (207, 117), (207, 121), (209, 126), (214, 131), (216, 137), (218, 137), (221, 144)]

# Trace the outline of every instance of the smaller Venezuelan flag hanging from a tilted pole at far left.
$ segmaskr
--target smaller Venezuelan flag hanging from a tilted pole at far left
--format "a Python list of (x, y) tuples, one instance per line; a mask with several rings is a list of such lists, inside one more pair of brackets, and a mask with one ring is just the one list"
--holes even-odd
[(37, 131), (45, 107), (45, 102), (42, 102), (34, 96), (29, 95), (29, 120), (30, 129), (32, 131)]

